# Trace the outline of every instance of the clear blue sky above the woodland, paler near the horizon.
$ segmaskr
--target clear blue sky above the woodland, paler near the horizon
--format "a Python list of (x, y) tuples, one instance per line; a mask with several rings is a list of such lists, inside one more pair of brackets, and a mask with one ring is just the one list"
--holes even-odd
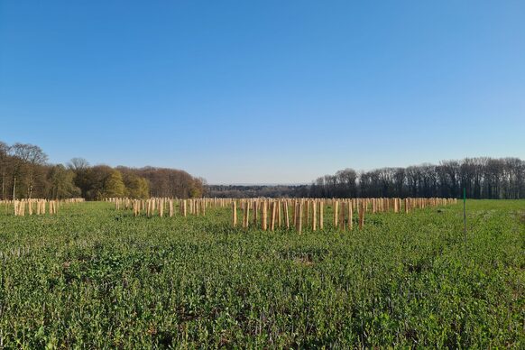
[(209, 183), (525, 159), (525, 2), (0, 0), (0, 121)]

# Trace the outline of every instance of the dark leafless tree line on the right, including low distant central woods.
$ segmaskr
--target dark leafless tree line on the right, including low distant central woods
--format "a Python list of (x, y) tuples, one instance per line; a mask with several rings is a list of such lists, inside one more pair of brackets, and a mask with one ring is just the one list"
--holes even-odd
[(525, 161), (519, 158), (465, 158), (407, 168), (357, 172), (339, 170), (310, 185), (208, 186), (209, 197), (290, 198), (525, 198)]

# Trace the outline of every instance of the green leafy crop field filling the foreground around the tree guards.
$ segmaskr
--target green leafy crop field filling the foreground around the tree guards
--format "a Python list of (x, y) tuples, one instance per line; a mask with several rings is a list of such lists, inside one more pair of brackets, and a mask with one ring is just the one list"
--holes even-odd
[(525, 201), (469, 201), (466, 237), (462, 207), (302, 235), (0, 207), (0, 348), (523, 348)]

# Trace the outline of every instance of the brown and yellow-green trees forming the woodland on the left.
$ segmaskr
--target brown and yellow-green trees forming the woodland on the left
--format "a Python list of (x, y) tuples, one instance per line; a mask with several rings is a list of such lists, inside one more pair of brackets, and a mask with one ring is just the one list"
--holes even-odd
[(39, 146), (0, 142), (0, 199), (111, 197), (197, 198), (204, 180), (183, 170), (107, 165), (91, 166), (82, 158), (51, 164)]

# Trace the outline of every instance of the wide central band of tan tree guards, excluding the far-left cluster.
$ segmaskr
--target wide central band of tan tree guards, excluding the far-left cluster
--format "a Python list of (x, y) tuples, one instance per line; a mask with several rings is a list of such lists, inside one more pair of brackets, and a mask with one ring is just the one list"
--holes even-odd
[[(179, 207), (181, 216), (206, 216), (210, 207), (231, 207), (231, 225), (247, 229), (254, 226), (266, 230), (276, 227), (322, 230), (327, 222), (325, 214), (331, 208), (332, 226), (352, 230), (364, 227), (366, 213), (409, 213), (424, 207), (456, 204), (456, 198), (198, 198), (198, 199), (129, 199), (108, 198), (115, 208), (132, 209), (134, 216), (173, 216)], [(356, 223), (355, 223), (356, 221)]]

